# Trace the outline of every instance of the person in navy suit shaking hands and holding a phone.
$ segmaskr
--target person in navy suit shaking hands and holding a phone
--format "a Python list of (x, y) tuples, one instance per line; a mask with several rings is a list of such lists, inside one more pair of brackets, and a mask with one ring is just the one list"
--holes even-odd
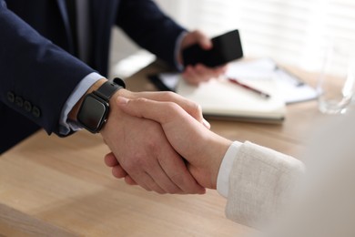
[[(0, 0), (0, 153), (39, 128), (61, 137), (81, 129), (76, 115), (84, 96), (107, 81), (113, 26), (175, 67), (184, 47), (211, 46), (206, 36), (178, 26), (151, 0)], [(199, 65), (184, 75), (196, 83), (223, 70)], [(202, 122), (200, 109), (172, 93), (122, 88), (109, 99), (114, 106), (100, 133), (146, 190), (203, 192), (159, 125), (121, 113), (114, 104), (119, 96), (174, 101)]]

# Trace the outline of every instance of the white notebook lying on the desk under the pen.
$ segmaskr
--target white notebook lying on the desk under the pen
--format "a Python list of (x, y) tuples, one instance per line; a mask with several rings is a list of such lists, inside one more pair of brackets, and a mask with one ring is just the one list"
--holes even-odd
[(212, 79), (198, 87), (179, 79), (176, 92), (198, 103), (207, 118), (258, 122), (281, 122), (285, 118), (285, 102), (273, 78), (241, 82), (269, 94), (270, 98), (263, 98), (228, 79)]

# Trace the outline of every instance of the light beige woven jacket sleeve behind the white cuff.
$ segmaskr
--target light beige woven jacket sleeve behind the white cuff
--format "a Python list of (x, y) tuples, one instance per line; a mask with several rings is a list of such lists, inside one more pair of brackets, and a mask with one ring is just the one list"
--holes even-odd
[(304, 166), (250, 142), (242, 144), (236, 156), (229, 176), (226, 214), (234, 222), (260, 229), (279, 214)]

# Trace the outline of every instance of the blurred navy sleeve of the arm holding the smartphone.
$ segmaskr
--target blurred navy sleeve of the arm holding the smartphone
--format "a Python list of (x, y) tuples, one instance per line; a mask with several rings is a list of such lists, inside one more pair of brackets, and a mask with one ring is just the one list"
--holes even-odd
[(176, 41), (185, 29), (162, 13), (153, 1), (122, 0), (117, 14), (117, 26), (139, 46), (171, 66), (176, 65)]

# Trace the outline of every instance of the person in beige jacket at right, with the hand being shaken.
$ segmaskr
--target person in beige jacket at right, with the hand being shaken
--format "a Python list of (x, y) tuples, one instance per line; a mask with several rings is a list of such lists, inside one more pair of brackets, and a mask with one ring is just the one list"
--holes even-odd
[[(302, 159), (305, 172), (285, 154), (218, 136), (175, 103), (117, 98), (117, 107), (159, 123), (198, 183), (228, 199), (229, 219), (273, 237), (355, 236), (355, 111), (320, 124)], [(136, 184), (112, 153), (105, 161), (115, 177)]]

